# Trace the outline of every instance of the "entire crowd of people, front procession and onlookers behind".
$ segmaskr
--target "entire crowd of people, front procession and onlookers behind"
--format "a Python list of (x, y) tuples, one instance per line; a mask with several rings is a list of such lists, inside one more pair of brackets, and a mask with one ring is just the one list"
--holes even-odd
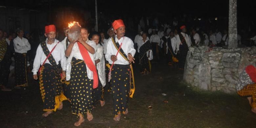
[[(79, 117), (74, 125), (79, 126), (85, 114), (89, 121), (93, 119), (92, 109), (98, 101), (104, 106), (104, 91), (108, 90), (113, 95), (113, 119), (119, 121), (121, 114), (128, 114), (127, 103), (135, 90), (132, 65), (135, 54), (139, 58), (140, 73), (146, 75), (152, 71), (151, 62), (160, 60), (178, 65), (182, 71), (191, 46), (228, 45), (226, 30), (222, 34), (219, 29), (178, 26), (176, 18), (172, 24), (159, 24), (157, 18), (149, 24), (148, 19), (145, 23), (142, 17), (134, 41), (124, 36), (126, 26), (121, 19), (111, 24), (108, 39), (105, 32), (90, 32), (77, 23), (76, 28), (63, 29), (62, 41), (56, 39), (55, 26), (48, 25), (44, 32), (46, 39), (40, 37), (39, 45), (31, 44), (33, 37), (21, 28), (10, 36), (0, 30), (1, 90), (11, 91), (7, 85), (13, 60), (16, 89), (28, 86), (28, 66), (33, 67), (33, 79), (39, 82), (44, 103), (43, 117), (62, 109), (62, 101), (68, 100), (72, 113)], [(78, 38), (74, 38), (75, 32), (79, 32)], [(256, 36), (248, 40), (253, 40), (255, 45)], [(240, 35), (238, 44), (243, 44)]]

